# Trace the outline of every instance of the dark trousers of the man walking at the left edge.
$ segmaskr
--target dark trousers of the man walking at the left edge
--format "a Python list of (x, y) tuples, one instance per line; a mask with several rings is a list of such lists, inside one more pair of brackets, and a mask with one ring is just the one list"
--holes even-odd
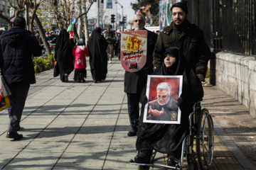
[(17, 132), (21, 115), (25, 106), (26, 97), (28, 96), (30, 84), (10, 85), (11, 90), (11, 106), (8, 108), (9, 126), (8, 132)]

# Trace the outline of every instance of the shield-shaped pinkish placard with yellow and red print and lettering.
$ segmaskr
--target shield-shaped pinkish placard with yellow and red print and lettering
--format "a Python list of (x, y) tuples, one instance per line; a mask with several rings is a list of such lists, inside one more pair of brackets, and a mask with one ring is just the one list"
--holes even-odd
[(138, 72), (146, 64), (147, 31), (121, 33), (121, 64), (127, 72)]

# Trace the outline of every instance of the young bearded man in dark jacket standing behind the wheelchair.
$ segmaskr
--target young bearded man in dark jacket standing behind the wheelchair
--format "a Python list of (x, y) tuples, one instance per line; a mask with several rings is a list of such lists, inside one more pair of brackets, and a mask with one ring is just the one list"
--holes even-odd
[(173, 21), (161, 31), (155, 45), (154, 69), (159, 67), (163, 60), (162, 55), (169, 47), (178, 47), (197, 77), (203, 81), (210, 58), (210, 49), (206, 44), (203, 30), (188, 22), (188, 7), (182, 2), (171, 6), (171, 16)]

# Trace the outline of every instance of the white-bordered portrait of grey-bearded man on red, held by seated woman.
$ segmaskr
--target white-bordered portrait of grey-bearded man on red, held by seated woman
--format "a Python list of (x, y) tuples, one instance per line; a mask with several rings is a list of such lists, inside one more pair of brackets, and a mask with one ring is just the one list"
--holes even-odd
[(148, 76), (144, 123), (181, 123), (181, 110), (177, 103), (181, 96), (182, 80), (183, 76)]

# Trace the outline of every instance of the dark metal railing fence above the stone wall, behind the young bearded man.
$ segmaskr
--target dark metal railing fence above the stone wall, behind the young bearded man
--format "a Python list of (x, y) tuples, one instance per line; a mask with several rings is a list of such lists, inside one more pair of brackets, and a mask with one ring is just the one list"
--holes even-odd
[(214, 50), (256, 57), (256, 0), (187, 0), (196, 23)]

